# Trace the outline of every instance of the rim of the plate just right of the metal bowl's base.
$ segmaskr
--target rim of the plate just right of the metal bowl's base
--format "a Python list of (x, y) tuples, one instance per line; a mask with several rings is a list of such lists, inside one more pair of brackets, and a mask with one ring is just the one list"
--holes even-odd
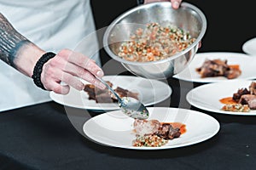
[[(212, 54), (212, 55), (216, 55), (216, 54), (220, 54), (220, 55), (229, 54), (229, 55), (231, 55), (231, 54), (234, 54), (234, 55), (242, 55), (242, 57), (245, 57), (247, 59), (253, 59), (251, 55), (243, 54), (243, 53), (238, 53), (238, 52), (229, 52), (229, 51), (211, 51), (211, 52), (209, 51), (209, 52), (196, 53), (194, 59), (198, 58), (198, 57), (205, 57), (206, 58), (206, 56), (200, 56), (200, 55), (207, 55), (207, 54)], [(194, 59), (192, 59), (192, 61)], [(183, 70), (183, 71), (187, 71), (187, 69), (189, 69), (189, 66), (185, 70)], [(211, 77), (211, 79), (193, 78), (193, 77), (191, 77), (189, 79), (189, 78), (186, 78), (186, 77), (179, 77), (179, 75), (181, 75), (183, 71), (177, 73), (173, 77), (176, 78), (177, 80), (183, 80), (183, 81), (186, 81), (186, 82), (199, 82), (199, 83), (230, 81), (229, 79), (218, 79), (218, 77), (216, 77), (216, 78)], [(256, 78), (256, 76), (255, 77), (247, 77), (247, 78), (239, 78), (239, 77), (237, 77), (236, 80), (242, 80), (242, 79), (252, 80), (254, 78)]]

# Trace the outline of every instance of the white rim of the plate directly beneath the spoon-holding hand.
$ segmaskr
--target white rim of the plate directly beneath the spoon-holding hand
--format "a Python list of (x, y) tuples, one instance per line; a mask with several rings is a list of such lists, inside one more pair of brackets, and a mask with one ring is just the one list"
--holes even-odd
[[(108, 78), (111, 78), (111, 77), (121, 77), (121, 78), (137, 78), (137, 79), (143, 79), (143, 77), (136, 77), (136, 76), (124, 76), (124, 75), (106, 75), (104, 77), (108, 77)], [(103, 77), (103, 78), (104, 78)], [(172, 95), (172, 88), (171, 86), (169, 86), (168, 84), (166, 84), (166, 82), (161, 82), (159, 80), (154, 80), (154, 79), (145, 79), (145, 81), (154, 81), (154, 82), (158, 82), (158, 83), (161, 83), (163, 86), (166, 87), (166, 97), (165, 98), (161, 98), (159, 99), (158, 101), (153, 101), (153, 102), (148, 102), (146, 104), (144, 104), (145, 106), (148, 106), (148, 105), (155, 105), (155, 104), (158, 104), (166, 99), (168, 99), (171, 95)], [(89, 83), (89, 82), (88, 82)], [(74, 88), (71, 87), (71, 90), (75, 90)], [(81, 93), (78, 92), (78, 93)], [(67, 103), (63, 103), (61, 102), (59, 99), (55, 99), (55, 95), (58, 96), (58, 95), (61, 95), (61, 94), (55, 94), (55, 92), (51, 91), (49, 92), (49, 97), (50, 99), (52, 99), (53, 101), (55, 101), (56, 103), (58, 104), (61, 104), (61, 105), (66, 105), (66, 106), (69, 106), (69, 107), (73, 107), (73, 108), (78, 108), (78, 109), (85, 109), (85, 110), (90, 110), (90, 111), (114, 111), (114, 110), (119, 110), (119, 106), (116, 105), (116, 106), (107, 106), (107, 107), (102, 107), (99, 106), (99, 107), (96, 107), (96, 106), (86, 106), (86, 105), (69, 105)], [(114, 105), (114, 104), (113, 104)]]

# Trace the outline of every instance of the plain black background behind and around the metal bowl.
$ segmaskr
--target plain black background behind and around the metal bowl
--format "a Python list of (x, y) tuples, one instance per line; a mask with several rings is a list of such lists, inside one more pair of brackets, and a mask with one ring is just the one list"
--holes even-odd
[[(200, 52), (242, 52), (242, 44), (256, 37), (255, 13), (252, 2), (231, 0), (190, 0), (206, 15), (207, 32), (202, 39)], [(108, 26), (119, 14), (136, 7), (136, 0), (91, 0), (96, 28)], [(249, 20), (249, 22), (248, 22)], [(102, 49), (102, 63), (109, 56)]]

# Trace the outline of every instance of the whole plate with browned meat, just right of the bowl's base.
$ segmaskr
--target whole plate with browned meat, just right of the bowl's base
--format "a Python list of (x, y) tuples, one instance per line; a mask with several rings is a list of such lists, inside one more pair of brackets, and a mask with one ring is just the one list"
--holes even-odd
[[(228, 70), (228, 76), (218, 76), (218, 77), (201, 77), (201, 74), (196, 71), (197, 68), (200, 68), (203, 63), (207, 60), (213, 60), (213, 59), (222, 59), (223, 61), (226, 60), (228, 65), (228, 68), (225, 68), (225, 70)], [(173, 77), (189, 81), (189, 82), (225, 82), (230, 80), (252, 80), (256, 78), (256, 67), (255, 67), (256, 58), (251, 57), (247, 54), (241, 54), (241, 53), (230, 53), (230, 52), (206, 52), (206, 53), (197, 53), (195, 54), (195, 58), (192, 59), (188, 67), (184, 70), (178, 73), (177, 75), (174, 75)], [(213, 66), (213, 65), (212, 65)], [(211, 68), (211, 67), (210, 67)], [(214, 67), (213, 67), (214, 68)], [(215, 70), (214, 68), (213, 70)], [(207, 68), (205, 68), (207, 72)], [(230, 73), (230, 71), (235, 71), (234, 73)], [(211, 70), (210, 70), (211, 71)], [(214, 76), (221, 75), (221, 74), (227, 74), (227, 71), (222, 71), (218, 73), (213, 71), (215, 74)], [(213, 73), (212, 73), (213, 74)], [(210, 74), (212, 76), (212, 74)], [(239, 75), (240, 74), (240, 75)], [(232, 76), (233, 75), (233, 76)], [(234, 76), (237, 76), (236, 78), (232, 78)], [(229, 78), (230, 79), (229, 79)]]

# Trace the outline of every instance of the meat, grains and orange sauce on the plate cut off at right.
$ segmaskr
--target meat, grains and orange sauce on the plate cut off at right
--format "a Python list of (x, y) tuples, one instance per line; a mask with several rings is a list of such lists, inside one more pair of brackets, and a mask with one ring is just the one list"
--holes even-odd
[(219, 99), (224, 104), (222, 111), (249, 112), (256, 110), (256, 82), (252, 82), (248, 88), (239, 88), (232, 97)]

